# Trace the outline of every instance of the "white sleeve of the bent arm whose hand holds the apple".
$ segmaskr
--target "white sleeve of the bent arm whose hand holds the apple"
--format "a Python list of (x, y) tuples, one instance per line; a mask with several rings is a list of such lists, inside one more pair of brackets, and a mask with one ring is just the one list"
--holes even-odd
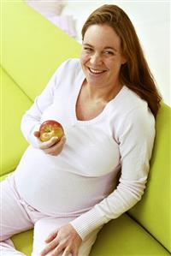
[(53, 103), (54, 92), (58, 86), (58, 80), (62, 76), (66, 63), (67, 62), (62, 63), (62, 65), (56, 69), (56, 72), (50, 78), (47, 86), (45, 86), (44, 91), (35, 98), (31, 108), (27, 110), (22, 117), (21, 132), (27, 142), (33, 147), (38, 147), (38, 139), (33, 133), (34, 131), (38, 131), (40, 127), (40, 120), (44, 110)]

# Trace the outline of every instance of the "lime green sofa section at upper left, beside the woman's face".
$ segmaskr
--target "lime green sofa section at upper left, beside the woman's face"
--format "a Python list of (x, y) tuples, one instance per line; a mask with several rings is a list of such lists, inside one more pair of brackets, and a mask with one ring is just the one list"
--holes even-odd
[(24, 1), (1, 5), (1, 64), (33, 100), (64, 60), (80, 56), (81, 46)]

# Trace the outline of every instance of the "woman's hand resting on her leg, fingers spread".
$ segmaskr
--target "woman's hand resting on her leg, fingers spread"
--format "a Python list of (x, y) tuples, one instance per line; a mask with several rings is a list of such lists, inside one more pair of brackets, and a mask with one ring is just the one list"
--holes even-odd
[(47, 247), (44, 247), (44, 250), (40, 253), (41, 256), (47, 255), (50, 252), (50, 256), (78, 256), (82, 239), (73, 226), (68, 223), (54, 230), (45, 242)]

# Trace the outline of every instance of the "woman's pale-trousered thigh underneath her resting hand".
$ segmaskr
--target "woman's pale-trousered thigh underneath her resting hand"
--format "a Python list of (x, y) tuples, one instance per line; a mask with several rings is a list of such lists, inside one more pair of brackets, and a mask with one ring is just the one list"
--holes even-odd
[[(39, 219), (38, 222), (35, 223), (34, 225), (34, 241), (33, 241), (32, 256), (38, 256), (39, 253), (44, 249), (44, 247), (47, 246), (44, 240), (50, 235), (51, 232), (54, 231), (54, 229), (69, 223), (71, 220), (73, 220), (72, 217), (59, 217), (59, 218), (46, 217), (46, 218)], [(99, 230), (100, 229), (96, 229), (90, 235), (87, 235), (85, 240), (82, 241), (82, 244), (79, 250), (79, 256), (89, 255), (91, 251), (91, 247), (96, 241), (97, 233)], [(71, 256), (71, 254), (68, 256)]]

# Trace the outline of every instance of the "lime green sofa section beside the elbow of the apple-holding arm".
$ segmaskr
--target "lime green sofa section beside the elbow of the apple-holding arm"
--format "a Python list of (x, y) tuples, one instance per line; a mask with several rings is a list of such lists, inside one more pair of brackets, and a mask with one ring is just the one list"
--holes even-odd
[(15, 84), (9, 75), (0, 68), (1, 75), (1, 131), (0, 156), (1, 176), (14, 170), (27, 142), (21, 134), (21, 117), (32, 102)]

